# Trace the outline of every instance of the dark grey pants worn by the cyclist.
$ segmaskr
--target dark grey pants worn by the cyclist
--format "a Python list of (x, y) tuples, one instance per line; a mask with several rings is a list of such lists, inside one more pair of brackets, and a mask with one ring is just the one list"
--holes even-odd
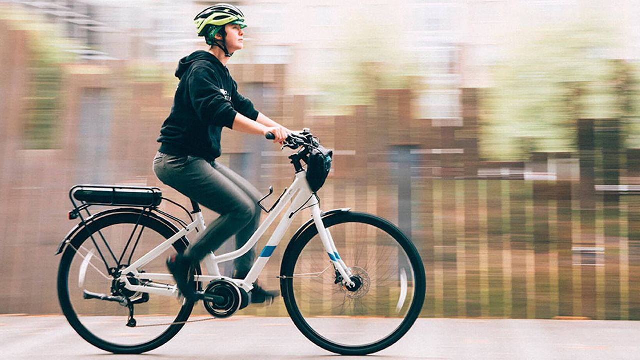
[[(204, 234), (186, 251), (194, 263), (202, 261), (236, 234), (237, 248), (243, 247), (258, 229), (258, 190), (246, 179), (216, 161), (195, 156), (174, 156), (158, 152), (154, 172), (160, 181), (202, 206), (220, 214)], [(244, 278), (255, 259), (255, 247), (236, 259), (236, 277)]]

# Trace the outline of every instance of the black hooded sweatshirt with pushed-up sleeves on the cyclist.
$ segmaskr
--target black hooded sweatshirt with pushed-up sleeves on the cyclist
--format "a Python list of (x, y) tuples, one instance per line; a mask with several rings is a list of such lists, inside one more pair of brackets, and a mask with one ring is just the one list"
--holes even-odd
[(237, 92), (229, 70), (207, 51), (182, 58), (175, 76), (180, 83), (157, 140), (160, 151), (209, 161), (219, 158), (222, 127), (232, 129), (237, 113), (256, 120), (258, 111)]

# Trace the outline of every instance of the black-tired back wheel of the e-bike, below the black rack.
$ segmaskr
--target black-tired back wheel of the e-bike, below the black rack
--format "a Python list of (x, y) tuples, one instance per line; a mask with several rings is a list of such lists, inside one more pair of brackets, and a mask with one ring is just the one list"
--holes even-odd
[[(134, 318), (138, 326), (127, 327), (128, 307), (121, 306), (118, 302), (83, 299), (84, 290), (112, 295), (113, 276), (109, 276), (111, 279), (109, 285), (109, 281), (103, 275), (108, 272), (109, 266), (117, 263), (117, 249), (118, 247), (122, 250), (125, 249), (124, 243), (129, 238), (132, 229), (136, 229), (136, 236), (132, 237), (133, 240), (130, 241), (129, 250), (127, 250), (134, 250), (137, 255), (133, 256), (132, 261), (177, 233), (175, 226), (154, 214), (146, 213), (143, 217), (140, 215), (141, 210), (123, 209), (122, 212), (109, 212), (104, 216), (97, 216), (93, 222), (77, 231), (73, 236), (63, 253), (58, 271), (58, 299), (62, 312), (70, 325), (84, 340), (114, 354), (141, 354), (164, 345), (182, 329), (184, 324), (152, 327), (142, 325), (185, 322), (191, 315), (195, 304), (193, 301), (150, 295), (144, 304), (134, 305), (134, 315), (136, 315)], [(138, 238), (137, 234), (141, 234), (141, 236)], [(111, 250), (106, 249), (102, 238), (108, 240)], [(137, 245), (136, 238), (140, 239), (137, 241)], [(96, 243), (99, 247), (96, 247)], [(184, 252), (187, 245), (186, 238), (182, 238), (173, 243), (173, 249), (175, 252)], [(79, 256), (76, 249), (79, 249), (83, 256)], [(97, 249), (102, 251), (102, 256)], [(111, 256), (111, 251), (116, 254), (115, 257)], [(166, 270), (164, 260), (169, 255), (167, 253), (157, 258), (145, 266), (145, 269), (150, 268), (154, 270), (153, 272), (167, 274), (168, 270)], [(106, 265), (103, 256), (109, 265)], [(126, 264), (128, 258), (128, 254), (125, 254), (122, 263)], [(103, 272), (103, 275), (100, 275), (100, 272)], [(70, 286), (72, 285), (70, 276), (74, 276), (76, 273), (79, 279), (77, 288)], [(201, 274), (199, 267), (196, 268), (195, 273)], [(131, 299), (136, 297), (140, 299), (143, 295), (141, 293), (131, 294), (131, 292), (129, 291), (128, 294)], [(168, 316), (160, 317), (160, 315)]]

